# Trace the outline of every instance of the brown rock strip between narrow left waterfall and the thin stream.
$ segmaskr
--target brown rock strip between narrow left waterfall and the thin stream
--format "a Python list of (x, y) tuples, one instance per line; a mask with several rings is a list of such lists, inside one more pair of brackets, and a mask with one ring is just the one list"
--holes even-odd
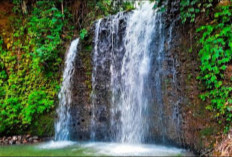
[[(86, 58), (91, 59), (90, 53), (83, 52), (81, 45), (76, 56), (75, 70), (72, 76), (72, 103), (70, 105), (70, 139), (72, 140), (88, 140), (90, 138), (90, 92), (86, 81), (88, 69), (84, 67)], [(86, 53), (83, 56), (83, 53)]]

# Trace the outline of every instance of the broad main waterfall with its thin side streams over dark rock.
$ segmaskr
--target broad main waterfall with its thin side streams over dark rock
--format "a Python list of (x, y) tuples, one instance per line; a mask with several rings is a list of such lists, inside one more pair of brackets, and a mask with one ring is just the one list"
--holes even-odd
[(165, 143), (167, 137), (178, 138), (180, 100), (170, 56), (176, 22), (167, 27), (165, 13), (153, 6), (143, 2), (95, 25), (93, 140)]

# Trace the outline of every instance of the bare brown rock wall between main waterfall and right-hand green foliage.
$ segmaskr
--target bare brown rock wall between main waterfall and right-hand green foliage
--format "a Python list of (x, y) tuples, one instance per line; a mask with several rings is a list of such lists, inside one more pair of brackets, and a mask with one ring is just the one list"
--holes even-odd
[(181, 139), (182, 146), (190, 148), (199, 154), (210, 154), (214, 149), (216, 137), (222, 133), (222, 128), (213, 118), (214, 113), (206, 110), (205, 102), (199, 98), (201, 83), (197, 80), (199, 75), (200, 61), (197, 43), (198, 34), (196, 28), (205, 23), (198, 17), (196, 24), (179, 24), (176, 29), (178, 38), (173, 38), (174, 54), (177, 56), (177, 78), (181, 93)]

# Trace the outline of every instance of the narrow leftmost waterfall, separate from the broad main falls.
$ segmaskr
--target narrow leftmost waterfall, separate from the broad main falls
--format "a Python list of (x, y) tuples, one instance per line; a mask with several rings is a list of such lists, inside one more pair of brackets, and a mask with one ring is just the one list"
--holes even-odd
[(79, 38), (72, 41), (65, 60), (63, 72), (63, 82), (59, 97), (59, 107), (57, 109), (58, 121), (55, 123), (55, 140), (70, 140), (70, 105), (72, 102), (72, 76), (75, 70), (75, 59), (77, 55), (77, 46)]

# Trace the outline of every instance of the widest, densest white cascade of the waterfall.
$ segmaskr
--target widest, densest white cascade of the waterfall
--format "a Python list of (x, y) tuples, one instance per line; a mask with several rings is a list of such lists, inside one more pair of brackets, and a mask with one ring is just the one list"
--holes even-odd
[(146, 85), (152, 58), (150, 45), (160, 20), (152, 7), (152, 4), (143, 4), (127, 20), (125, 54), (120, 70), (120, 97), (114, 104), (115, 110), (121, 113), (121, 133), (118, 134), (120, 142), (141, 143), (148, 129), (146, 88), (149, 87)]

